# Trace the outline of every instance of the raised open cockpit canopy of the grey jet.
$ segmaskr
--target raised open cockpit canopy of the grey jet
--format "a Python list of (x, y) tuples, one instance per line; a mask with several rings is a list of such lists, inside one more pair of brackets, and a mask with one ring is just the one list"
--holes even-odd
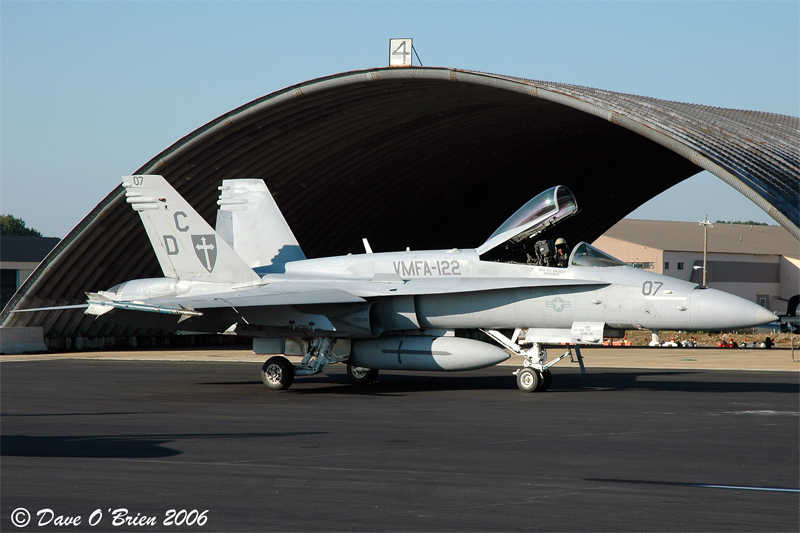
[(572, 191), (563, 185), (556, 185), (538, 194), (511, 215), (477, 248), (478, 255), (483, 255), (507, 241), (516, 244), (535, 237), (577, 211), (578, 202)]

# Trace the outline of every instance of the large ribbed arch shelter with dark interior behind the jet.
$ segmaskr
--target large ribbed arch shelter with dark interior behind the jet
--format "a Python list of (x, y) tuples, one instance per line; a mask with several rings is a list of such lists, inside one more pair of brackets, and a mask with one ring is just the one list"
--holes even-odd
[[(379, 68), (254, 100), (134, 174), (165, 176), (212, 225), (223, 179), (263, 178), (309, 257), (359, 253), (361, 237), (375, 251), (475, 247), (556, 184), (581, 208), (559, 235), (592, 241), (702, 169), (800, 239), (798, 122), (456, 69)], [(4, 326), (68, 337), (148, 332), (80, 310), (9, 313), (161, 276), (124, 200), (118, 186), (61, 241), (3, 310)]]

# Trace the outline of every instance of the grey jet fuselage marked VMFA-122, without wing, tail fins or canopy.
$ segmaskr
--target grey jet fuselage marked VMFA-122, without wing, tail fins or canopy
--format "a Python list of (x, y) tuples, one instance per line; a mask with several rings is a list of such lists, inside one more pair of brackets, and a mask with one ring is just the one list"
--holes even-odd
[[(287, 263), (285, 274), (267, 275), (264, 281), (279, 277), (372, 279), (376, 294), (407, 300), (393, 306), (408, 320), (379, 324), (382, 331), (570, 328), (574, 322), (603, 322), (616, 329), (719, 330), (751, 326), (772, 316), (736, 296), (629, 265), (557, 268), (488, 262), (474, 250), (310, 259)], [(509, 279), (519, 283), (491, 288), (492, 280)], [(402, 295), (404, 285), (426, 280), (448, 280), (463, 290)], [(526, 286), (533, 280), (552, 284)]]

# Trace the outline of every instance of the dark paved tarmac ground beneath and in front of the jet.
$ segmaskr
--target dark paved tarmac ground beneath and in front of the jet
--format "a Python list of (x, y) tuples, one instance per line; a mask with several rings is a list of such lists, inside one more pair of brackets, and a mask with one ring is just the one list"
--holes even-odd
[[(586, 350), (587, 373), (562, 362), (546, 393), (508, 365), (364, 389), (332, 365), (273, 392), (263, 357), (208, 352), (0, 358), (0, 530), (800, 530), (794, 371)], [(154, 525), (115, 526), (123, 508)]]

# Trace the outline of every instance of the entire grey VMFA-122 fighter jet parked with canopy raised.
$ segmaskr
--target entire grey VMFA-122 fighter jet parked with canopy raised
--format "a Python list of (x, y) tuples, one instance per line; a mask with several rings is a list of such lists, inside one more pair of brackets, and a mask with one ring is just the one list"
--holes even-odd
[[(524, 361), (514, 372), (519, 388), (543, 391), (551, 366), (575, 361), (573, 348), (583, 370), (580, 345), (625, 329), (777, 320), (755, 303), (628, 266), (585, 242), (567, 253), (563, 239), (535, 241), (577, 212), (564, 186), (530, 200), (474, 250), (372, 253), (365, 239), (365, 254), (320, 259), (306, 259), (262, 180), (222, 182), (216, 231), (161, 176), (126, 176), (123, 186), (164, 277), (88, 293), (85, 312), (176, 315), (168, 328), (250, 337), (255, 353), (271, 355), (262, 366), (271, 389), (336, 362), (347, 364), (351, 383), (367, 384), (379, 370), (471, 370), (515, 353)], [(525, 262), (482, 260), (501, 245), (523, 247)], [(521, 330), (530, 347), (518, 342)], [(566, 351), (548, 362), (547, 345)]]

